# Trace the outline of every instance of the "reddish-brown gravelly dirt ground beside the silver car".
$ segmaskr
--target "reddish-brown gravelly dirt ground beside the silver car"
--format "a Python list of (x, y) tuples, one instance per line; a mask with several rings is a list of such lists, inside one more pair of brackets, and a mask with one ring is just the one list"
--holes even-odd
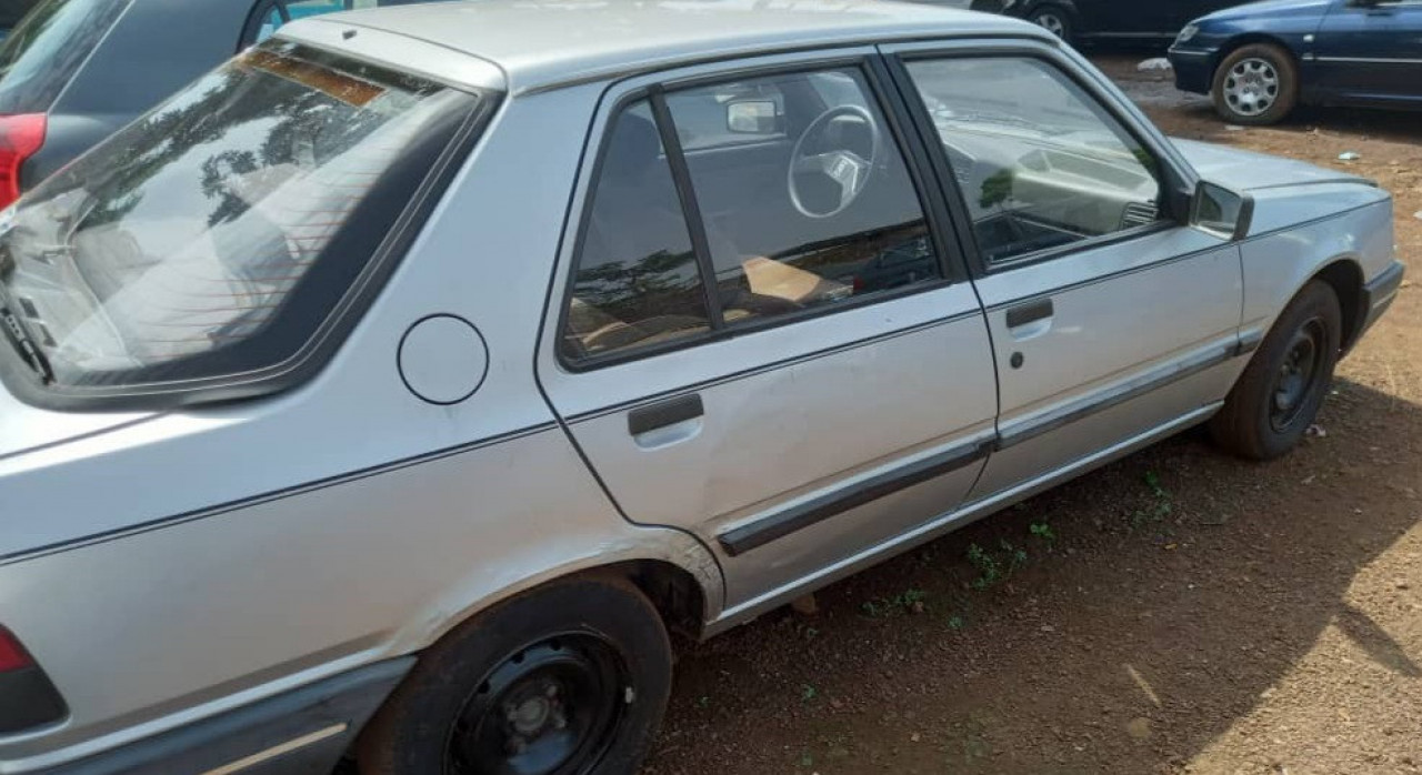
[(1422, 115), (1231, 131), (1140, 58), (1098, 64), (1169, 134), (1396, 196), (1411, 280), (1324, 434), (1186, 434), (687, 646), (646, 772), (1422, 772)]

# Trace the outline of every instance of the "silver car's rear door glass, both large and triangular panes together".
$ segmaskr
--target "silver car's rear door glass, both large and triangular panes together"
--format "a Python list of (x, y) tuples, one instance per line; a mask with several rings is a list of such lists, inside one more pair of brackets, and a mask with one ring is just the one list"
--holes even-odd
[[(734, 330), (944, 277), (917, 189), (857, 68), (664, 100), (670, 127), (640, 102), (607, 142), (565, 310), (565, 356)], [(668, 132), (680, 159), (660, 144)]]

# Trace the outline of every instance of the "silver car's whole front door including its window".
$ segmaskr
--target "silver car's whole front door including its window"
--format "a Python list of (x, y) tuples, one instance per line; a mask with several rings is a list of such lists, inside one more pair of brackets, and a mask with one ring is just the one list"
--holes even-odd
[(1175, 161), (1140, 139), (1158, 135), (1035, 47), (903, 55), (973, 235), (1000, 375), (971, 498), (1206, 417), (1241, 365), (1239, 249), (1165, 212)]

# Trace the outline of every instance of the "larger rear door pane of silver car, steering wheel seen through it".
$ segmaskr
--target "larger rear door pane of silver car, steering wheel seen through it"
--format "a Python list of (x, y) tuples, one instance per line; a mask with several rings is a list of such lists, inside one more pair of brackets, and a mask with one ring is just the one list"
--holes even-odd
[[(695, 119), (687, 105), (724, 88), (670, 97), (678, 132)], [(774, 146), (687, 151), (727, 323), (941, 277), (909, 171), (857, 70), (738, 88), (784, 95), (788, 132)]]

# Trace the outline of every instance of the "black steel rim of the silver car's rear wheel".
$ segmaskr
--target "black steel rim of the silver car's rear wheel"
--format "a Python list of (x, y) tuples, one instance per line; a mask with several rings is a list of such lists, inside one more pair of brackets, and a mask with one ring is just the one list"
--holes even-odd
[(515, 651), (465, 700), (445, 745), (445, 775), (584, 775), (623, 721), (627, 670), (592, 634)]

